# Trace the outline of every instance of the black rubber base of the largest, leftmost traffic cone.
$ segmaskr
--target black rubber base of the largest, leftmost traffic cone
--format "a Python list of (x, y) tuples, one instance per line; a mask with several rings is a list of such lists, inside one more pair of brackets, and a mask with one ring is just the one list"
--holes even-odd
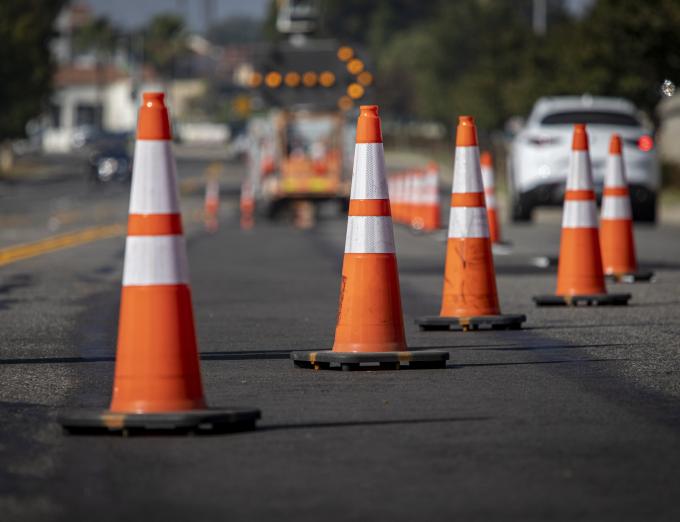
[(205, 409), (171, 413), (113, 413), (108, 410), (76, 410), (59, 416), (72, 434), (183, 435), (247, 431), (255, 429), (260, 410), (247, 408)]

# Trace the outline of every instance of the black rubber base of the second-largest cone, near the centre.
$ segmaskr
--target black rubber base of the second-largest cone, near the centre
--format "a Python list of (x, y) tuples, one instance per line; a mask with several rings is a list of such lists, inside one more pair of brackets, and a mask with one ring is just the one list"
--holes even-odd
[(446, 368), (449, 352), (292, 352), (290, 358), (298, 368), (314, 370), (425, 370)]

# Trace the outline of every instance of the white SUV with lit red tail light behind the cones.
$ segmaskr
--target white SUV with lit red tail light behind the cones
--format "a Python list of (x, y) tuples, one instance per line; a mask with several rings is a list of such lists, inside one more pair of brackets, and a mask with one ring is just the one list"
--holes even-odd
[(623, 140), (633, 217), (654, 222), (659, 163), (651, 129), (630, 101), (589, 95), (540, 98), (515, 136), (507, 165), (513, 221), (531, 221), (535, 207), (562, 204), (574, 123), (587, 125), (598, 199), (616, 132)]

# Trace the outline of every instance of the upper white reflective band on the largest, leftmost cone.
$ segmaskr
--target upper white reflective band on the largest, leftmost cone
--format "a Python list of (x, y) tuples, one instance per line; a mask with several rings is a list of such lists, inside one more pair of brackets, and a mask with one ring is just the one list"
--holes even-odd
[(177, 174), (171, 147), (170, 141), (137, 141), (132, 167), (130, 214), (179, 212)]

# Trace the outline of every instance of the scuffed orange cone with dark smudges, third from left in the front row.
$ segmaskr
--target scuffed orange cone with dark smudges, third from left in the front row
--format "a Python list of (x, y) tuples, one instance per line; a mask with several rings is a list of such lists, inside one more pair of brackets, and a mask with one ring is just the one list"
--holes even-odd
[(470, 116), (461, 116), (456, 133), (451, 215), (446, 250), (442, 307), (439, 316), (421, 317), (423, 330), (521, 328), (524, 315), (502, 315), (496, 291), (477, 130)]

